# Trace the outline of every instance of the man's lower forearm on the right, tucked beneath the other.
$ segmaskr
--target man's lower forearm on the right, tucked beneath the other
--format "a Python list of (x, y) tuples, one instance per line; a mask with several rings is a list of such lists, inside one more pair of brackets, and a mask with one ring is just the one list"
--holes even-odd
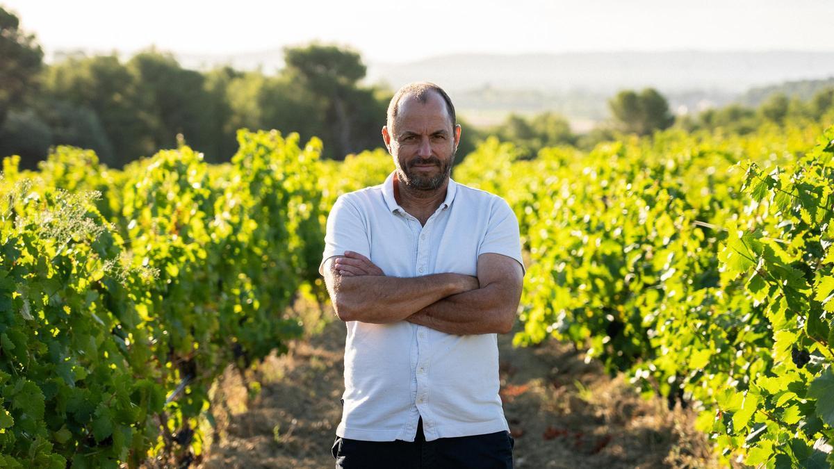
[(512, 328), (521, 292), (507, 295), (501, 288), (505, 286), (496, 283), (451, 295), (406, 320), (447, 334), (505, 334)]

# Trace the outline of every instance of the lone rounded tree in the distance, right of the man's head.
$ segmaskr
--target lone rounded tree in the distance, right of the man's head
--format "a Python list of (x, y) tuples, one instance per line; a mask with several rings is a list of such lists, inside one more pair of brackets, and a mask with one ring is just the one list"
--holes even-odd
[(669, 111), (669, 103), (654, 88), (641, 93), (620, 91), (608, 101), (611, 114), (625, 133), (649, 135), (655, 130), (668, 129), (675, 117)]

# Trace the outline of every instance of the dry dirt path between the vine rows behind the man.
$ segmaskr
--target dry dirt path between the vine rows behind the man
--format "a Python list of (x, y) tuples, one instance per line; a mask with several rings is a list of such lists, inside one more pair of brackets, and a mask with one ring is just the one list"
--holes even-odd
[[(515, 466), (715, 466), (691, 412), (644, 401), (622, 378), (585, 364), (570, 346), (551, 342), (514, 349), (499, 340), (502, 398), (515, 436)], [(227, 372), (214, 396), (219, 412), (203, 468), (332, 467), (330, 445), (344, 390), (344, 325), (269, 356), (253, 376), (262, 385), (249, 401), (240, 376)]]

